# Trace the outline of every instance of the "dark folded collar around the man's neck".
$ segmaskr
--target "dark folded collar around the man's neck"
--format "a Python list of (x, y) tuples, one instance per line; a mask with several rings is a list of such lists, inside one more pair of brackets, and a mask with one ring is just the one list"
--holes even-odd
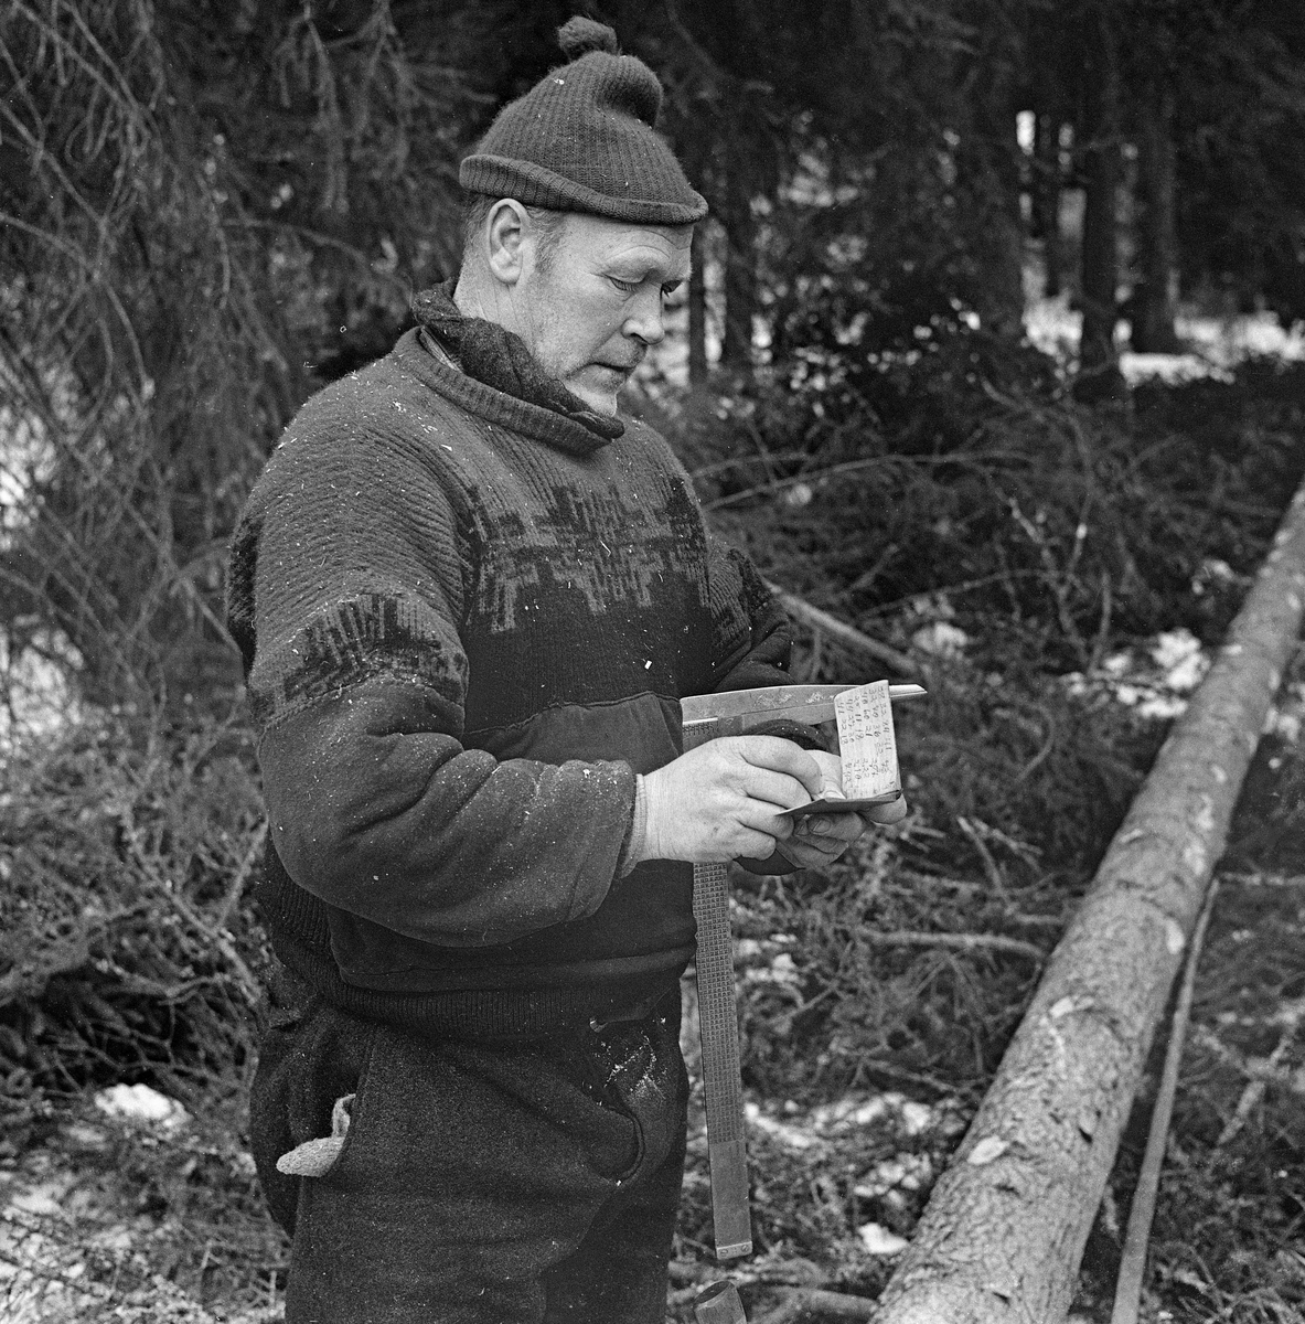
[[(562, 444), (565, 450), (597, 450), (625, 433), (625, 424), (615, 414), (590, 409), (549, 377), (519, 335), (484, 318), (465, 316), (453, 302), (454, 285), (446, 281), (422, 290), (412, 301), (418, 339), (437, 361), (443, 356), (474, 381), (525, 405), (560, 414), (573, 425), (565, 429), (570, 434), (566, 438), (570, 444)], [(557, 445), (560, 438), (547, 440)]]

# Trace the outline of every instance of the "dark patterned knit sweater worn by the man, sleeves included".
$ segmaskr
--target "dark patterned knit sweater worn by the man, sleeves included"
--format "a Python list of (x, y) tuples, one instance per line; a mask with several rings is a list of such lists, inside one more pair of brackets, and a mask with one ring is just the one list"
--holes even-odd
[(784, 681), (750, 564), (650, 428), (459, 372), (416, 331), (312, 397), (249, 498), (232, 632), (282, 961), (431, 1034), (521, 1035), (674, 986), (692, 871), (619, 876), (678, 700)]

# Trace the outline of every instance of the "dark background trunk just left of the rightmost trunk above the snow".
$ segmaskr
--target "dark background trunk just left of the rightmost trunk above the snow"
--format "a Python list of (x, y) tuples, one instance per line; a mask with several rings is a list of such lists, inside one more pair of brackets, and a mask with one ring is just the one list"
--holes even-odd
[(1120, 184), (1120, 58), (1112, 7), (1088, 16), (1084, 50), (1085, 142), (1083, 172), (1083, 338), (1079, 346), (1080, 396), (1102, 399), (1122, 391), (1114, 355), (1118, 320), (1116, 197)]

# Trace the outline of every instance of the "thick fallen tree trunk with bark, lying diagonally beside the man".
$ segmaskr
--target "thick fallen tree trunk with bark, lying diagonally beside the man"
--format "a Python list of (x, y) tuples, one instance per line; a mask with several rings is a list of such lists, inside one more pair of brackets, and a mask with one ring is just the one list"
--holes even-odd
[(1056, 1324), (1305, 598), (1305, 487), (942, 1174), (876, 1324)]

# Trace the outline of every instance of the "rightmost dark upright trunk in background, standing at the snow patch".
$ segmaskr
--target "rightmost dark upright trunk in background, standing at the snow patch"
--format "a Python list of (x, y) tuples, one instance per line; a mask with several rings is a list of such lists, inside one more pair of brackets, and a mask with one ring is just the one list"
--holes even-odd
[(1177, 354), (1173, 278), (1178, 265), (1174, 226), (1174, 94), (1158, 89), (1138, 106), (1138, 285), (1133, 297), (1133, 348)]

